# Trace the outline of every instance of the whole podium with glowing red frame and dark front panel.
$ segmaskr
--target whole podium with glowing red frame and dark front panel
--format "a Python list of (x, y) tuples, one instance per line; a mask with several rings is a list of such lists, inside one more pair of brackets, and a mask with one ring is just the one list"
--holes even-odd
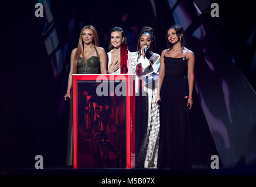
[(135, 75), (73, 75), (73, 168), (135, 168)]

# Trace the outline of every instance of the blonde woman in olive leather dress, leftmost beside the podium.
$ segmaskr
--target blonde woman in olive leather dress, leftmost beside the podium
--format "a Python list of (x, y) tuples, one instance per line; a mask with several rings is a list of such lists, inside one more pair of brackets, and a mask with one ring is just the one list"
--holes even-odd
[(107, 74), (107, 54), (98, 44), (98, 33), (91, 25), (84, 26), (80, 32), (78, 47), (73, 49), (70, 57), (70, 72), (67, 93), (70, 98), (69, 133), (67, 143), (66, 165), (73, 165), (73, 105), (71, 97), (72, 74)]

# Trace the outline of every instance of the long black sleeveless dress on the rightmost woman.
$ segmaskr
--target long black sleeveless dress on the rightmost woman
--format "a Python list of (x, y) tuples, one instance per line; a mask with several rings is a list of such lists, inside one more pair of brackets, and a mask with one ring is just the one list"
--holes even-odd
[(191, 133), (186, 57), (165, 57), (161, 87), (158, 168), (190, 168)]

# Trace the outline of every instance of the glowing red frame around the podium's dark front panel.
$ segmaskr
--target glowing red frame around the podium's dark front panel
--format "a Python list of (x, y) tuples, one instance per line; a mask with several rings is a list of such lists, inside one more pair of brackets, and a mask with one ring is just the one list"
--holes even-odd
[[(78, 84), (79, 82), (94, 82), (100, 84), (101, 82), (115, 82), (120, 81), (125, 84), (125, 141), (126, 141), (126, 157), (124, 168), (135, 168), (135, 75), (121, 74), (74, 74), (73, 75), (73, 168), (77, 168), (78, 154)], [(103, 96), (104, 97), (104, 96)]]

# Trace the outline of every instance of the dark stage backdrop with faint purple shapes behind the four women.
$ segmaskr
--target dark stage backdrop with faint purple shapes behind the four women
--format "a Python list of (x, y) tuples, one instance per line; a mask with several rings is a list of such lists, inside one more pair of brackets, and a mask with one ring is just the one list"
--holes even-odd
[[(69, 103), (63, 96), (70, 53), (85, 25), (97, 29), (106, 52), (112, 27), (125, 30), (129, 50), (135, 51), (141, 27), (152, 26), (158, 54), (166, 47), (167, 28), (182, 25), (186, 47), (196, 56), (202, 123), (208, 124), (221, 162), (224, 167), (255, 162), (256, 36), (251, 1), (38, 2), (44, 5), (43, 18), (35, 16), (37, 1), (1, 1), (2, 173), (35, 168), (36, 155), (43, 155), (44, 168), (65, 167)], [(219, 4), (219, 18), (210, 16), (213, 2)]]

